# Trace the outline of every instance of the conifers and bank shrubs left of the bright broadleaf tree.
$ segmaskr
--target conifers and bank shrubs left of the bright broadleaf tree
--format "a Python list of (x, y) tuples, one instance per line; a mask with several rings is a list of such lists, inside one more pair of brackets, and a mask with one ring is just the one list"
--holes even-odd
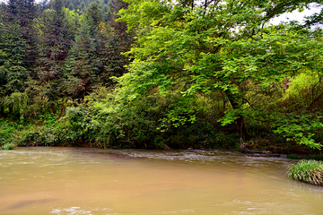
[[(92, 125), (92, 111), (97, 110), (85, 104), (89, 102), (85, 98), (92, 90), (111, 86), (111, 76), (127, 72), (123, 67), (127, 57), (120, 55), (130, 46), (126, 27), (119, 28), (113, 16), (109, 23), (103, 22), (109, 13), (108, 7), (102, 13), (102, 4), (109, 4), (106, 0), (91, 4), (83, 0), (43, 1), (38, 17), (24, 14), (28, 8), (22, 4), (27, 2), (34, 4), (10, 1), (0, 13), (0, 38), (4, 41), (0, 44), (0, 116), (24, 126), (12, 133), (2, 127), (4, 138), (14, 133), (10, 141), (21, 145), (83, 144), (97, 139), (104, 144), (107, 139), (113, 142), (110, 133)], [(74, 11), (75, 7), (65, 8), (65, 3), (83, 13)], [(15, 17), (17, 14), (22, 17)], [(16, 23), (23, 19), (27, 25)]]

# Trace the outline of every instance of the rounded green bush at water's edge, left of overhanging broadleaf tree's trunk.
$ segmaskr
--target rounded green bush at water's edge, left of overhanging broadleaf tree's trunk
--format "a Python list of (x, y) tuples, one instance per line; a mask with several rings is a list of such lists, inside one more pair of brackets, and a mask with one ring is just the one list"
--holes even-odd
[(112, 95), (102, 102), (95, 102), (98, 110), (93, 125), (100, 126), (101, 133), (96, 138), (102, 142), (102, 136), (112, 134), (118, 142), (131, 143), (131, 147), (162, 147), (159, 120), (164, 114), (165, 103), (151, 97), (138, 100), (135, 106), (121, 106)]

